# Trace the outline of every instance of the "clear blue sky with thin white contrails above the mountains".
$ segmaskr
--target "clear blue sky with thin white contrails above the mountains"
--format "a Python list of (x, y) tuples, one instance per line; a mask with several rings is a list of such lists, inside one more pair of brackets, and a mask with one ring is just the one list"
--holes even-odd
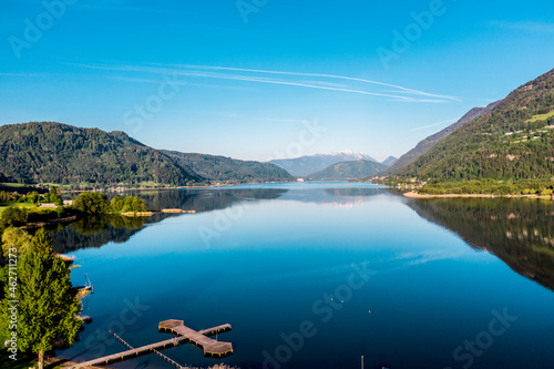
[(0, 124), (383, 160), (554, 68), (550, 1), (4, 0)]

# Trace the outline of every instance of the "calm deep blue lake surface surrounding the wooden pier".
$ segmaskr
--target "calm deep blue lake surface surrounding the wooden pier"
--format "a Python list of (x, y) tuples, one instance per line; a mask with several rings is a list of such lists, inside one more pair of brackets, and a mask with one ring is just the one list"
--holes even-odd
[[(109, 329), (135, 347), (164, 340), (171, 336), (157, 332), (157, 324), (182, 319), (194, 329), (233, 325), (218, 337), (235, 351), (223, 360), (189, 345), (164, 351), (204, 368), (360, 368), (361, 356), (365, 368), (554, 368), (554, 293), (547, 288), (554, 270), (541, 256), (552, 258), (552, 247), (536, 254), (541, 244), (521, 246), (538, 255), (536, 270), (530, 257), (525, 266), (538, 281), (480, 249), (502, 248), (502, 237), (514, 239), (521, 227), (547, 243), (551, 218), (505, 225), (511, 230), (491, 223), (484, 229), (500, 227), (500, 238), (481, 237), (488, 233), (475, 229), (484, 221), (464, 219), (465, 204), (452, 209), (369, 184), (145, 196), (151, 207), (198, 212), (72, 253), (82, 266), (73, 283), (82, 285), (86, 271), (94, 285), (83, 312), (93, 321), (61, 356), (86, 360), (124, 350)], [(531, 214), (544, 206), (554, 212), (550, 204), (530, 206)], [(171, 368), (154, 356), (114, 367)]]

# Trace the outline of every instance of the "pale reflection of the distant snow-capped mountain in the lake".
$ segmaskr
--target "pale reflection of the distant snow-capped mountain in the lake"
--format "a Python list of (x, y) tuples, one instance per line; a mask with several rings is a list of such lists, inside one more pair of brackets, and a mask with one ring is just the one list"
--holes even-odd
[(316, 203), (339, 207), (353, 207), (371, 201), (371, 196), (382, 195), (382, 188), (345, 187), (321, 189), (289, 191), (279, 199), (291, 199), (302, 203)]

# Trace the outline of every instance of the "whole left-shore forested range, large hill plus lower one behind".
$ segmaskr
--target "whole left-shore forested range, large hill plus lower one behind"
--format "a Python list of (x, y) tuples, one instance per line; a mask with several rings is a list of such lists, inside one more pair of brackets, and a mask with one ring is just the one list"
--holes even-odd
[(185, 186), (294, 177), (268, 163), (155, 150), (120, 131), (32, 122), (0, 126), (0, 181)]

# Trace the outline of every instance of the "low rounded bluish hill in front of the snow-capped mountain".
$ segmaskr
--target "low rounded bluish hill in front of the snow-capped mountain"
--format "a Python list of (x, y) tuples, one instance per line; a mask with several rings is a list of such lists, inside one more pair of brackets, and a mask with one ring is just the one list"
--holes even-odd
[(310, 180), (359, 180), (387, 170), (388, 166), (372, 161), (355, 161), (332, 164), (322, 171), (308, 175)]

